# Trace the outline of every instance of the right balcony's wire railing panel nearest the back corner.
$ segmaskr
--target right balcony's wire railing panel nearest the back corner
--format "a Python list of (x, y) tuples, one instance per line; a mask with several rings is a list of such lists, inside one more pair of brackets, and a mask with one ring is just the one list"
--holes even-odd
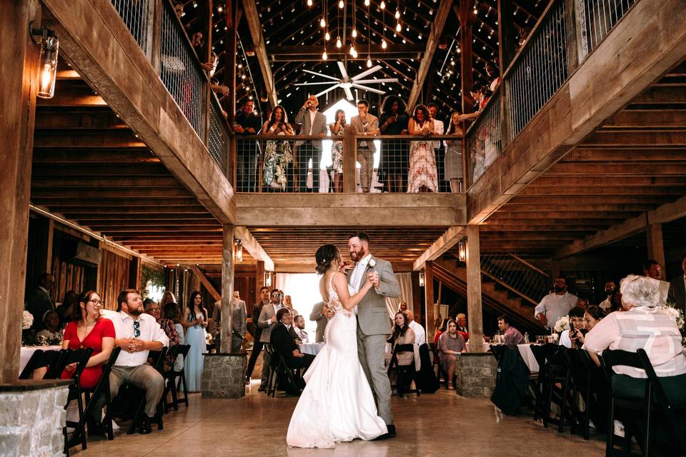
[(465, 147), (472, 183), (476, 182), (502, 153), (500, 91), (496, 89), (482, 113), (467, 131)]

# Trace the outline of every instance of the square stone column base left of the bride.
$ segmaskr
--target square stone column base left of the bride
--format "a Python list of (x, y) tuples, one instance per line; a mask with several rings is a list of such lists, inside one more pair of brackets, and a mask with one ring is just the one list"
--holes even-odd
[(247, 354), (207, 353), (202, 371), (202, 398), (245, 396)]

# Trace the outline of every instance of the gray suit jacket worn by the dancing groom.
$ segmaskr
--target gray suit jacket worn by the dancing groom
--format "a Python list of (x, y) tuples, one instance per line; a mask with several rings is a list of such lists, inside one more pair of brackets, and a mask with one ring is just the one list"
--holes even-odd
[[(369, 259), (369, 263), (372, 261), (375, 262), (374, 266), (367, 264), (360, 281), (364, 281), (370, 271), (376, 271), (379, 273), (379, 291), (372, 287), (357, 304), (357, 325), (365, 335), (389, 335), (391, 321), (386, 309), (386, 297), (398, 298), (400, 285), (389, 262), (374, 256)], [(348, 276), (348, 282), (351, 279), (352, 273)]]

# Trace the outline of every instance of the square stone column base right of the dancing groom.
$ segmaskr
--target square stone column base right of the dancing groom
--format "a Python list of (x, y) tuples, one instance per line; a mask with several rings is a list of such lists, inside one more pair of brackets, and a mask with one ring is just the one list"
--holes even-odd
[(457, 393), (465, 397), (488, 397), (495, 388), (498, 363), (492, 353), (462, 353), (455, 361)]

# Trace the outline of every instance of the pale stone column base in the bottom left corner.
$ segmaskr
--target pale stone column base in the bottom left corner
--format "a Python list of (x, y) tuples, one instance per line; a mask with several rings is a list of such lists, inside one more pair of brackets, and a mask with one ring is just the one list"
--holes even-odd
[(62, 427), (69, 382), (0, 385), (0, 456), (64, 455)]

